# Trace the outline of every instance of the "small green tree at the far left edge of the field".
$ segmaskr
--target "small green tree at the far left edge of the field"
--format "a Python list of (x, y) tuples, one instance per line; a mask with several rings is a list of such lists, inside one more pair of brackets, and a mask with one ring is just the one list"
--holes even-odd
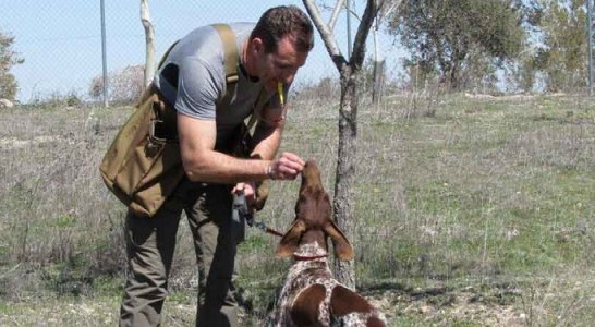
[(19, 53), (12, 50), (14, 36), (4, 34), (0, 31), (0, 98), (14, 100), (19, 84), (10, 70), (15, 64), (25, 62), (19, 57)]

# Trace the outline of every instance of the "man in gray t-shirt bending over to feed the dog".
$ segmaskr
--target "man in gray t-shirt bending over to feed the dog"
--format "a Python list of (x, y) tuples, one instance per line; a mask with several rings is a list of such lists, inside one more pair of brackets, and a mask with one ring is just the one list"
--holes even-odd
[[(251, 203), (255, 182), (293, 180), (303, 169), (304, 160), (295, 154), (275, 156), (284, 123), (282, 99), (314, 44), (309, 19), (296, 7), (277, 7), (256, 25), (229, 26), (240, 57), (236, 83), (226, 83), (226, 49), (214, 26), (199, 27), (178, 41), (156, 74), (155, 87), (177, 110), (185, 178), (154, 217), (136, 217), (129, 210), (131, 274), (121, 326), (160, 324), (182, 210), (189, 217), (199, 270), (196, 325), (236, 326), (232, 194), (244, 192)], [(243, 133), (239, 126), (253, 113), (262, 90), (268, 101), (257, 113), (251, 158), (233, 157), (231, 140)]]

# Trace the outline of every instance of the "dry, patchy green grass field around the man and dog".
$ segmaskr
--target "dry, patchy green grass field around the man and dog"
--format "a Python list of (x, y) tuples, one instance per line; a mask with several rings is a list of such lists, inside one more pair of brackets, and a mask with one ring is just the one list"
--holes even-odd
[[(282, 150), (316, 158), (332, 193), (338, 105), (312, 98), (294, 99)], [(129, 110), (0, 112), (0, 325), (114, 324), (124, 209), (97, 167)], [(591, 325), (591, 98), (400, 94), (362, 105), (359, 121), (359, 287), (392, 324)], [(283, 230), (298, 184), (274, 183), (258, 219)], [(186, 225), (179, 240), (172, 326), (191, 325), (195, 311)], [(246, 326), (266, 318), (287, 271), (272, 256), (276, 241), (251, 230), (242, 244)]]

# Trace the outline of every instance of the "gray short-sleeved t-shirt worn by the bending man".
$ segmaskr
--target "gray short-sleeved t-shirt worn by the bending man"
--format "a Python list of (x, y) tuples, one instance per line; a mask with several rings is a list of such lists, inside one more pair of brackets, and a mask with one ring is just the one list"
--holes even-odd
[[(229, 24), (235, 34), (238, 51), (254, 28), (253, 23)], [(242, 56), (240, 56), (239, 64)], [(177, 78), (168, 78), (177, 68)], [(174, 74), (175, 75), (175, 74)], [(238, 83), (229, 101), (220, 102), (227, 92), (223, 44), (217, 31), (208, 25), (184, 36), (172, 48), (155, 76), (155, 85), (173, 104), (178, 112), (217, 123), (217, 144), (223, 144), (235, 128), (247, 118), (264, 85), (252, 81), (238, 68)], [(172, 85), (177, 83), (178, 85)], [(286, 90), (287, 93), (287, 90)], [(271, 107), (278, 108), (278, 96), (267, 94)], [(221, 108), (216, 106), (220, 102)]]

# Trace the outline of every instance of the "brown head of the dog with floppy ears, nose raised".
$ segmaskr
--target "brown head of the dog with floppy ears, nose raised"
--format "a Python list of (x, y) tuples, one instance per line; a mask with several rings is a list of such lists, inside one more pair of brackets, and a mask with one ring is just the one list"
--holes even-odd
[(332, 241), (335, 256), (342, 261), (353, 258), (353, 247), (331, 219), (331, 205), (323, 187), (316, 161), (308, 160), (302, 171), (302, 185), (295, 204), (295, 219), (277, 247), (277, 256), (291, 256), (300, 244), (316, 241), (328, 251), (327, 238)]

